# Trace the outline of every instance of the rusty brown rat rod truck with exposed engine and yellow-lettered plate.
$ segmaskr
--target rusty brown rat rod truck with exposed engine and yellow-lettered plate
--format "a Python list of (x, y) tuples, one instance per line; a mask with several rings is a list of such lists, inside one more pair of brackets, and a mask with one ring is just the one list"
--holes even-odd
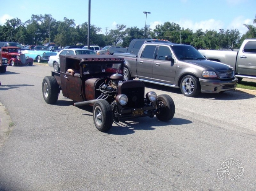
[[(60, 91), (72, 99), (74, 106), (93, 106), (93, 121), (99, 131), (107, 131), (113, 121), (156, 117), (169, 121), (175, 113), (174, 101), (169, 95), (145, 96), (144, 83), (124, 80), (124, 58), (112, 55), (61, 55), (60, 72), (51, 72), (42, 83), (43, 98), (54, 104)], [(76, 65), (76, 66), (75, 66)], [(78, 67), (79, 66), (79, 67)], [(79, 68), (75, 74), (69, 68)]]

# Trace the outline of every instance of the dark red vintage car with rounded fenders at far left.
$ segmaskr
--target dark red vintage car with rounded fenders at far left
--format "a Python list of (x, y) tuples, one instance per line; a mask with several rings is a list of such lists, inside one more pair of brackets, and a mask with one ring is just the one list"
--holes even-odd
[(33, 59), (26, 57), (22, 53), (22, 49), (16, 46), (5, 46), (1, 48), (2, 56), (7, 58), (8, 65), (18, 66), (18, 65), (33, 65)]

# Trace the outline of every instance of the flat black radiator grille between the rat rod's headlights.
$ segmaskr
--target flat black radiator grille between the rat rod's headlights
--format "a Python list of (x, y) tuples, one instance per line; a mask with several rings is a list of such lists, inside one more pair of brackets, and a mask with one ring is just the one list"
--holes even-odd
[(128, 97), (128, 103), (123, 107), (138, 108), (144, 106), (144, 88), (125, 88), (121, 92)]

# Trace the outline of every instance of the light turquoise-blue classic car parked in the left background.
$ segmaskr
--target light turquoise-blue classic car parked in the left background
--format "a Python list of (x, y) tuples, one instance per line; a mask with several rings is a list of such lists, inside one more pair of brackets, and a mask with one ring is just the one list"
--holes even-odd
[(48, 46), (35, 46), (31, 50), (23, 50), (22, 53), (25, 54), (26, 57), (33, 58), (33, 60), (36, 60), (38, 63), (49, 61), (50, 56), (57, 54), (57, 52), (51, 52)]

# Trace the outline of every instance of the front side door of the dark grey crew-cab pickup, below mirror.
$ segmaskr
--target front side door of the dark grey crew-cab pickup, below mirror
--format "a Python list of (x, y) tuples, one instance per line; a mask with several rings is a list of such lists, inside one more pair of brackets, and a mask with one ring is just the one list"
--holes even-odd
[(170, 46), (159, 46), (156, 59), (153, 63), (153, 80), (166, 84), (173, 84), (176, 72), (176, 62), (165, 60), (165, 56), (171, 56)]

